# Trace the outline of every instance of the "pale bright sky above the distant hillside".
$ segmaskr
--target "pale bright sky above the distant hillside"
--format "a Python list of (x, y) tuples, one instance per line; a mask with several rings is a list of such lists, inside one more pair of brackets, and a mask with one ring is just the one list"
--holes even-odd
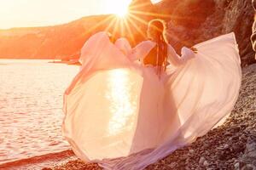
[(0, 0), (0, 29), (53, 26), (94, 14), (115, 14), (131, 0)]

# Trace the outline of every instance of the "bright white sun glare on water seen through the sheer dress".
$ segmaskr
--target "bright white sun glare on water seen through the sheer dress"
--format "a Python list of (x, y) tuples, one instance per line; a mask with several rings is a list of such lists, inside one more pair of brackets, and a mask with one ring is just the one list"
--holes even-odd
[[(132, 89), (137, 86), (134, 81), (136, 75), (129, 70), (118, 69), (109, 72), (108, 88), (110, 92), (106, 94), (106, 98), (111, 100), (111, 108), (113, 116), (108, 124), (108, 133), (114, 135), (133, 127), (134, 115), (137, 111), (138, 94)], [(133, 80), (132, 80), (133, 79)]]

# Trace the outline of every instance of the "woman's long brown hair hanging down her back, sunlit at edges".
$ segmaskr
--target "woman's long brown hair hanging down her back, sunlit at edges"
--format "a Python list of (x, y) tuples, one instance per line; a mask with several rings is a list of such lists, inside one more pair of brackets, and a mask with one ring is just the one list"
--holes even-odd
[(166, 40), (166, 22), (164, 20), (150, 20), (148, 23), (148, 38), (156, 42), (157, 72), (160, 75), (166, 70), (167, 64), (167, 40)]

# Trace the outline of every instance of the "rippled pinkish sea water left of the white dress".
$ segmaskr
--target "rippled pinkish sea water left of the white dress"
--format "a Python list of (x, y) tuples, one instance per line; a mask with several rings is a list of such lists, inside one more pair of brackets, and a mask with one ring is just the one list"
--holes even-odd
[(0, 59), (0, 164), (70, 149), (61, 136), (63, 93), (79, 66)]

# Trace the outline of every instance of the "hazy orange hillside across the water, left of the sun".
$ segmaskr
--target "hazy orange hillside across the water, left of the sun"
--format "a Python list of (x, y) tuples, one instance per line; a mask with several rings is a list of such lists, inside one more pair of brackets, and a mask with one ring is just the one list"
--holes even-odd
[(0, 58), (69, 59), (79, 56), (90, 30), (109, 15), (84, 17), (60, 26), (0, 30)]

